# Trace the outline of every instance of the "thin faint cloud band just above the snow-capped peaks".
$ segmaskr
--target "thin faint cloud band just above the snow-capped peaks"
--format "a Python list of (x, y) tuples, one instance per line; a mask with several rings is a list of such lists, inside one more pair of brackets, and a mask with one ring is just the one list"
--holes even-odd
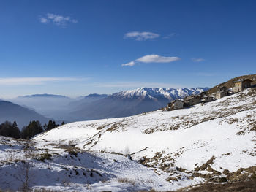
[(139, 82), (139, 81), (123, 81), (123, 82), (97, 82), (93, 84), (99, 88), (182, 88), (184, 85), (170, 84), (164, 82)]

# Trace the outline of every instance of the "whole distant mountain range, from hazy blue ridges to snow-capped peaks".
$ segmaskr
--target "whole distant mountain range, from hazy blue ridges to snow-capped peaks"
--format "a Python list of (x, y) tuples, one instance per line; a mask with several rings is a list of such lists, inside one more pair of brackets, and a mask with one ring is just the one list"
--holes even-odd
[(136, 115), (157, 110), (174, 99), (207, 90), (208, 88), (137, 88), (111, 95), (89, 94), (77, 99), (61, 95), (34, 94), (19, 96), (10, 101), (47, 118), (70, 122)]

